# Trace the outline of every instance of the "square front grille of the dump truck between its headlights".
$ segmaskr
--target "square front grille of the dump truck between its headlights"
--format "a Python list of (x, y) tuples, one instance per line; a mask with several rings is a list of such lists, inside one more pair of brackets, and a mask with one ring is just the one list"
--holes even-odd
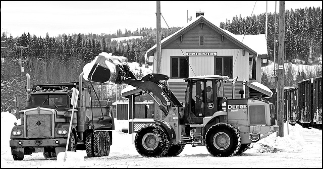
[(53, 137), (52, 113), (46, 110), (40, 110), (40, 112), (41, 114), (34, 114), (29, 111), (25, 114), (26, 138)]

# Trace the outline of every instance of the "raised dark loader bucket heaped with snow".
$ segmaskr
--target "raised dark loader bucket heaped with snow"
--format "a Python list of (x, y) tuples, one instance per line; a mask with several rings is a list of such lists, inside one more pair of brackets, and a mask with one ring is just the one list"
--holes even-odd
[(88, 80), (93, 82), (104, 83), (110, 80), (111, 71), (109, 67), (105, 64), (105, 57), (99, 55), (96, 59), (89, 75)]

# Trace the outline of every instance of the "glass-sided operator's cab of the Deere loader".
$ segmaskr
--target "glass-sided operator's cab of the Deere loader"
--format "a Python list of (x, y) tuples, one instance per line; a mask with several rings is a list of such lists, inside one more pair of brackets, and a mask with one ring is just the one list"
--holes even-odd
[(219, 109), (219, 101), (224, 97), (224, 79), (210, 75), (187, 79), (184, 123), (202, 124)]

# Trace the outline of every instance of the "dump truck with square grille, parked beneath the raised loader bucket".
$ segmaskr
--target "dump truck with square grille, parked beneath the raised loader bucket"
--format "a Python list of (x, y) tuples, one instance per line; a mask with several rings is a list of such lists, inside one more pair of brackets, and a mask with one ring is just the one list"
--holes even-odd
[[(66, 150), (67, 143), (68, 151), (86, 150), (88, 157), (109, 155), (114, 130), (112, 104), (94, 99), (93, 84), (83, 81), (83, 74), (79, 82), (33, 86), (26, 74), (26, 106), (19, 111), (21, 125), (15, 123), (10, 136), (14, 160), (23, 160), (33, 152), (56, 157)], [(76, 107), (71, 104), (73, 88), (79, 91)]]

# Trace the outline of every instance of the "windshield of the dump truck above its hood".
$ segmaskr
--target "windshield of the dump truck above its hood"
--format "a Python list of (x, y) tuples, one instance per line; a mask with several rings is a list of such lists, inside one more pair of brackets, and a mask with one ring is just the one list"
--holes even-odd
[(51, 105), (58, 107), (66, 107), (67, 95), (46, 94), (46, 95), (31, 95), (31, 105)]

